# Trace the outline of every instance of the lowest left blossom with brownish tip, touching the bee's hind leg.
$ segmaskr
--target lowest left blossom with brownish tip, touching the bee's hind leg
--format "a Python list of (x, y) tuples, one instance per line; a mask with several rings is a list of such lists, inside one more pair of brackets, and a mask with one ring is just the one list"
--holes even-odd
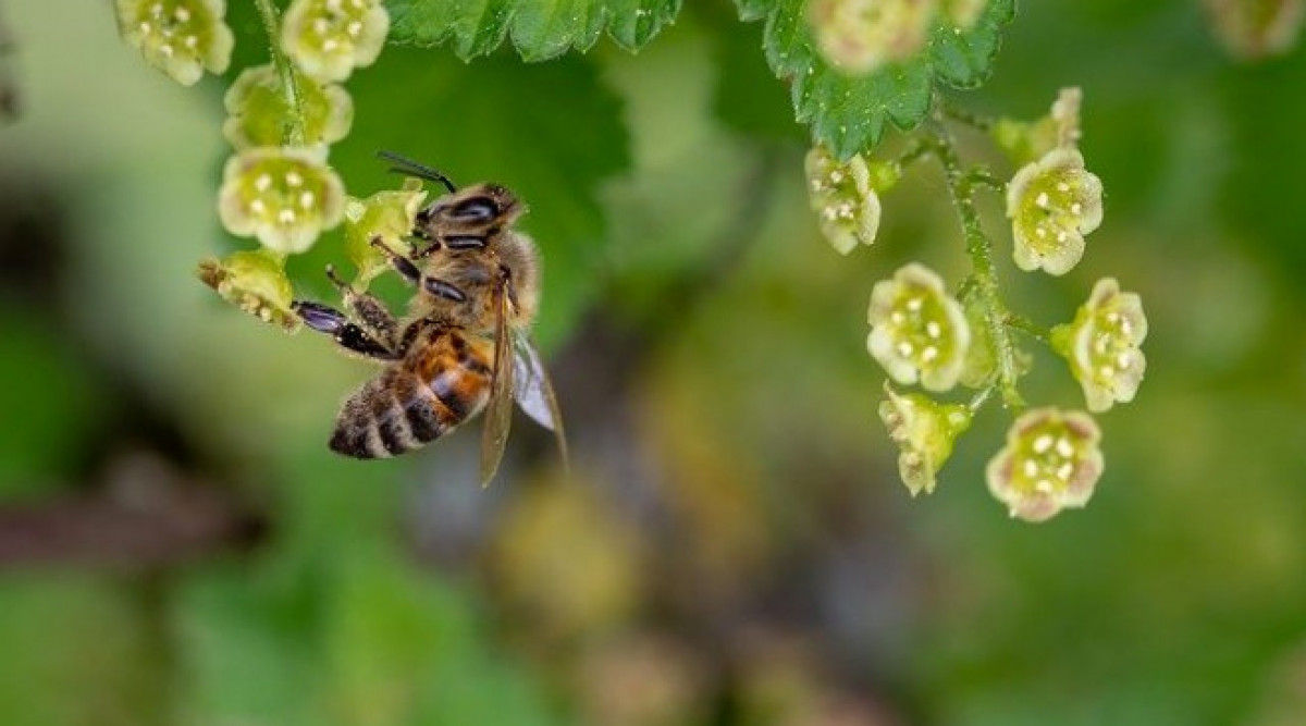
[(299, 316), (290, 309), (290, 281), (276, 255), (264, 249), (235, 252), (226, 260), (204, 260), (197, 273), (223, 300), (249, 315), (286, 330), (299, 328)]

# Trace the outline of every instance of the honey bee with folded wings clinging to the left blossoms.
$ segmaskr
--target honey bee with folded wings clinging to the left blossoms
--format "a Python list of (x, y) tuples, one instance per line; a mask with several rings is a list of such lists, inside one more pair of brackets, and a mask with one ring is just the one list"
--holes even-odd
[(293, 306), (308, 328), (332, 336), (346, 351), (387, 363), (345, 400), (330, 449), (387, 458), (421, 448), (483, 411), (481, 481), (487, 484), (503, 458), (516, 401), (554, 431), (565, 465), (558, 398), (530, 341), (539, 253), (513, 229), (525, 206), (498, 184), (460, 191), (432, 168), (381, 155), (398, 165), (396, 171), (438, 182), (448, 193), (418, 212), (409, 255), (372, 239), (417, 289), (402, 320), (330, 266), (326, 276), (346, 312), (307, 300)]

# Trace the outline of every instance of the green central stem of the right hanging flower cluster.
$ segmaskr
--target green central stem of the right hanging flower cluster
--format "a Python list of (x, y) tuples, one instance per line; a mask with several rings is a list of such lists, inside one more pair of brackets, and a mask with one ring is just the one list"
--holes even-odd
[(943, 165), (943, 175), (948, 183), (948, 192), (952, 195), (952, 205), (957, 210), (961, 222), (961, 232), (966, 243), (966, 255), (970, 256), (970, 276), (974, 279), (974, 292), (983, 308), (983, 321), (989, 328), (993, 339), (994, 353), (998, 358), (998, 389), (1002, 392), (1003, 403), (1008, 409), (1020, 410), (1025, 406), (1020, 392), (1016, 389), (1016, 346), (1011, 339), (1011, 330), (1007, 328), (1010, 313), (1007, 306), (998, 294), (998, 265), (993, 259), (993, 243), (983, 231), (980, 222), (980, 210), (976, 209), (973, 197), (976, 179), (961, 166), (956, 146), (947, 128), (940, 123), (935, 124), (936, 131), (930, 133), (934, 142), (935, 155)]

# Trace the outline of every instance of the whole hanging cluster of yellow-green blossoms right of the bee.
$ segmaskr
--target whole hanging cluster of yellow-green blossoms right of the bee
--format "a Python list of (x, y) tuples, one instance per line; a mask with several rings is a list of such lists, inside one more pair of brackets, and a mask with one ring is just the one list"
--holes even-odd
[(1088, 411), (1106, 411), (1138, 392), (1147, 364), (1140, 350), (1147, 319), (1139, 296), (1106, 278), (1071, 323), (1050, 332), (1015, 315), (1002, 302), (991, 242), (973, 200), (978, 187), (1004, 191), (1016, 266), (1054, 276), (1074, 268), (1084, 255), (1084, 235), (1102, 221), (1102, 183), (1079, 151), (1080, 103), (1079, 89), (1063, 89), (1043, 119), (981, 124), (1019, 166), (1004, 189), (986, 168), (964, 168), (946, 132), (926, 132), (888, 163), (862, 155), (838, 162), (821, 148), (807, 155), (812, 209), (824, 236), (845, 255), (874, 240), (880, 214), (876, 192), (892, 187), (909, 162), (936, 155), (957, 200), (973, 269), (956, 295), (939, 274), (912, 262), (875, 283), (867, 313), (867, 350), (888, 379), (935, 393), (957, 384), (976, 389), (961, 403), (895, 390), (885, 383), (879, 417), (899, 447), (899, 477), (913, 496), (934, 491), (956, 439), (996, 394), (1016, 419), (987, 466), (993, 496), (1012, 517), (1029, 522), (1088, 503), (1104, 467), (1101, 432), (1085, 411), (1025, 410), (1017, 381), (1033, 358), (1016, 345), (1016, 334), (1042, 341), (1064, 358)]

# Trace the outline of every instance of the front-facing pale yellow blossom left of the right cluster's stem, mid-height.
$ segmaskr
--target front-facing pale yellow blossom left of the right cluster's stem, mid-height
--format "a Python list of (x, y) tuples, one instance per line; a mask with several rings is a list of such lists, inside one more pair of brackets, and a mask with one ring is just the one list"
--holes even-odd
[(875, 283), (867, 312), (871, 334), (866, 347), (895, 381), (921, 381), (930, 390), (957, 383), (970, 346), (970, 326), (961, 303), (943, 289), (943, 279), (912, 262), (892, 279)]

